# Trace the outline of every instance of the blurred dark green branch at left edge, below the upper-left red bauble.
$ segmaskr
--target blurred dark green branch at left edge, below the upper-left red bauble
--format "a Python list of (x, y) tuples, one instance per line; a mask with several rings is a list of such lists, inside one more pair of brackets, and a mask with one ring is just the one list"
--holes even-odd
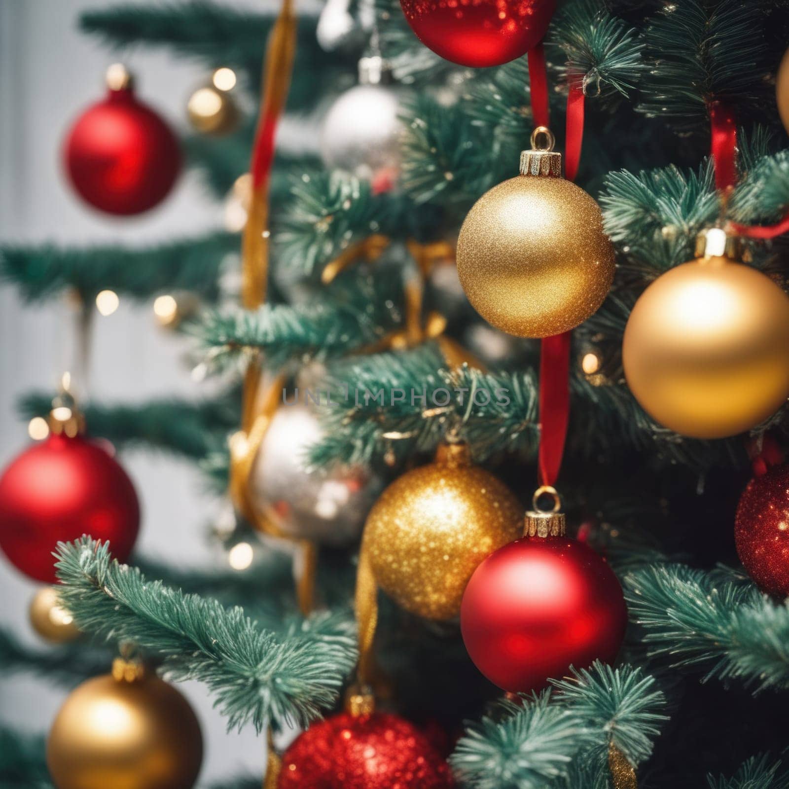
[(84, 301), (91, 301), (105, 289), (136, 300), (174, 290), (213, 300), (222, 261), (238, 245), (235, 234), (212, 233), (134, 249), (7, 246), (0, 249), (0, 282), (16, 285), (25, 301), (42, 301), (63, 290), (76, 290)]

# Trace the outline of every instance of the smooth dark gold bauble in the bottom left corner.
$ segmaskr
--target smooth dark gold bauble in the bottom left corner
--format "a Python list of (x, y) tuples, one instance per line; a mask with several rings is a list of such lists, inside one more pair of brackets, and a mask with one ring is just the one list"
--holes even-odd
[(155, 676), (88, 679), (65, 700), (47, 740), (58, 789), (189, 789), (202, 758), (192, 708)]

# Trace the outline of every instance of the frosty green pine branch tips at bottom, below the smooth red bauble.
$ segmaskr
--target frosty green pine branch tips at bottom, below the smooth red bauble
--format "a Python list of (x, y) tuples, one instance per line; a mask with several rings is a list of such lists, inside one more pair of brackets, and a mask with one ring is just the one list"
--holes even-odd
[[(451, 765), (474, 789), (543, 789), (583, 785), (589, 762), (608, 769), (611, 742), (639, 765), (667, 720), (664, 694), (641, 669), (596, 663), (553, 682), (554, 690), (499, 704), (458, 741)], [(589, 784), (586, 784), (589, 786)]]

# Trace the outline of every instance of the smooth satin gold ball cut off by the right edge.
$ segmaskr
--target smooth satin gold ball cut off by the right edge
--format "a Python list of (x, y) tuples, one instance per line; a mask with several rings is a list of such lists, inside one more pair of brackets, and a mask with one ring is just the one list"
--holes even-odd
[(789, 297), (726, 257), (682, 264), (636, 302), (623, 364), (660, 424), (700, 439), (735, 436), (789, 397)]

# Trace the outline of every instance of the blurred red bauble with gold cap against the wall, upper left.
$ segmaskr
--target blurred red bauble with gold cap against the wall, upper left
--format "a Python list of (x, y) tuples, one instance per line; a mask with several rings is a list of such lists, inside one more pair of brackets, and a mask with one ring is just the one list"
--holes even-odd
[(178, 140), (140, 102), (119, 64), (107, 70), (107, 96), (77, 118), (65, 140), (65, 170), (80, 196), (108, 214), (140, 214), (159, 204), (181, 170)]

